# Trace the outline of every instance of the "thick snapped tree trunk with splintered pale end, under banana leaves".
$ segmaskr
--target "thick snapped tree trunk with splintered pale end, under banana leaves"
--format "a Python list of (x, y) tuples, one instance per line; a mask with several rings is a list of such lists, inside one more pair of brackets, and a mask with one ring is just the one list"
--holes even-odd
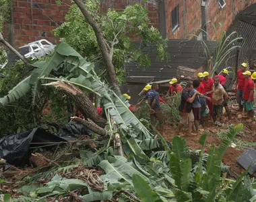
[(69, 96), (73, 102), (75, 102), (75, 106), (77, 109), (82, 112), (84, 117), (87, 119), (91, 119), (104, 128), (106, 125), (106, 119), (103, 119), (97, 112), (96, 108), (92, 104), (92, 101), (88, 98), (86, 94), (79, 90), (79, 88), (75, 88), (73, 84), (68, 83), (66, 81), (57, 81), (47, 84), (49, 86), (55, 86), (57, 89), (61, 90), (64, 94)]

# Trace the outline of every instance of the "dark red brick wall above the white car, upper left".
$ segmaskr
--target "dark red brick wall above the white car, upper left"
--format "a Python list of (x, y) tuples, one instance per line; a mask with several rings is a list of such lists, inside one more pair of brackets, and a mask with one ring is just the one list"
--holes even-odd
[(58, 6), (55, 0), (13, 0), (15, 47), (42, 38), (57, 42), (51, 31), (64, 22), (70, 2)]

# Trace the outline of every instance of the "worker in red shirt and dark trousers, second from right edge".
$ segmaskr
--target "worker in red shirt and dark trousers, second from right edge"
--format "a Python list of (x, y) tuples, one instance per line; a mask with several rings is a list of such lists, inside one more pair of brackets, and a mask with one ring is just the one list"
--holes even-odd
[(240, 69), (237, 71), (236, 77), (236, 102), (239, 104), (239, 111), (243, 112), (243, 94), (245, 89), (245, 76), (243, 73), (247, 68), (247, 63), (242, 63)]

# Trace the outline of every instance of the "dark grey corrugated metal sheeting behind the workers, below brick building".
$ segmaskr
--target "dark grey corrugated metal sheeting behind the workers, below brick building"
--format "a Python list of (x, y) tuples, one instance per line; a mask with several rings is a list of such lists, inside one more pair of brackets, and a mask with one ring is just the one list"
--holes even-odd
[[(213, 55), (217, 42), (204, 41)], [(168, 61), (156, 61), (156, 46), (150, 46), (142, 50), (151, 59), (150, 67), (142, 69), (137, 67), (137, 63), (127, 63), (126, 73), (129, 83), (148, 83), (166, 80), (175, 77), (177, 67), (185, 66), (191, 69), (199, 69), (201, 66), (207, 68), (207, 58), (204, 54), (203, 45), (199, 40), (168, 40)]]

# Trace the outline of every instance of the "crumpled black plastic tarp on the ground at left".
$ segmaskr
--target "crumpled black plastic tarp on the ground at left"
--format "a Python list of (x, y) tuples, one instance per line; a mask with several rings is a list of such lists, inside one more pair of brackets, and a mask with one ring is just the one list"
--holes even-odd
[(91, 132), (80, 124), (69, 123), (61, 127), (58, 135), (42, 128), (8, 135), (0, 139), (0, 158), (14, 166), (25, 166), (30, 158), (30, 148), (53, 147), (53, 145), (58, 145), (59, 142), (71, 141), (79, 135), (91, 135)]

